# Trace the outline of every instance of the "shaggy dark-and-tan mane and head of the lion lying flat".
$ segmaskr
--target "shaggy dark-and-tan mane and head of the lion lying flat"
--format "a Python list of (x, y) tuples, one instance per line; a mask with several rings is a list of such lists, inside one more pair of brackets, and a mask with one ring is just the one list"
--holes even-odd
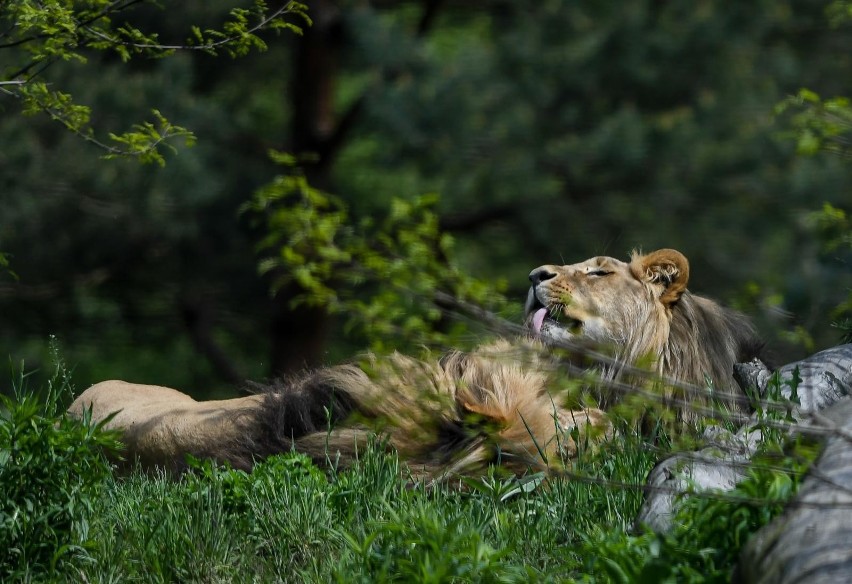
[[(348, 466), (378, 431), (412, 472), (430, 478), (481, 472), (498, 461), (518, 472), (545, 468), (542, 450), (556, 459), (573, 452), (567, 434), (559, 444), (554, 440), (563, 423), (557, 420), (579, 420), (584, 430), (588, 416), (593, 424), (604, 417), (585, 410), (557, 416), (546, 374), (507, 360), (510, 348), (498, 342), (438, 361), (397, 354), (373, 363), (375, 378), (341, 365), (255, 386), (261, 406), (225, 458), (251, 468), (256, 460), (294, 450), (320, 464)], [(222, 459), (222, 445), (218, 452)]]

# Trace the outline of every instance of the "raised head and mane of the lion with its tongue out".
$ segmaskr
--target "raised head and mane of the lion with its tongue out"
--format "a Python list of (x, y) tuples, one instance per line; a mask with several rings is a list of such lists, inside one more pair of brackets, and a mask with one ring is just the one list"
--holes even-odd
[(689, 262), (673, 249), (634, 252), (629, 262), (598, 256), (543, 265), (530, 280), (526, 314), (535, 335), (606, 345), (622, 363), (650, 358), (658, 373), (681, 382), (738, 392), (733, 365), (761, 346), (745, 316), (687, 290)]

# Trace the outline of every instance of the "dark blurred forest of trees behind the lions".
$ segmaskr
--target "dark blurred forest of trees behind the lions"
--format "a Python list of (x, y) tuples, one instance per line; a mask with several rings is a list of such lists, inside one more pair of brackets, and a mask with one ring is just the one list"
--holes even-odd
[[(131, 3), (132, 4), (132, 3)], [(160, 38), (235, 0), (122, 13)], [(814, 213), (848, 210), (848, 156), (785, 135), (807, 87), (852, 92), (852, 30), (816, 0), (308, 2), (301, 36), (239, 59), (92, 52), (51, 80), (96, 128), (158, 108), (197, 137), (165, 166), (104, 160), (0, 93), (0, 354), (37, 369), (56, 335), (79, 387), (107, 378), (231, 391), (366, 346), (340, 316), (270, 295), (263, 228), (239, 209), (303, 157), (353, 222), (440, 195), (462, 269), (505, 280), (520, 318), (542, 263), (674, 247), (690, 288), (755, 317), (780, 359), (840, 340), (848, 248)], [(8, 29), (12, 23), (0, 23)], [(4, 56), (14, 47), (0, 46)], [(2, 273), (2, 272), (0, 272)]]

